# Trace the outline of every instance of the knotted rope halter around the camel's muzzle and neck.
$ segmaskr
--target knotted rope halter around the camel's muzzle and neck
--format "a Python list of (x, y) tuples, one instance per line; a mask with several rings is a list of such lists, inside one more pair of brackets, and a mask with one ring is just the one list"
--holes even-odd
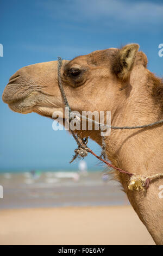
[[(67, 98), (66, 98), (66, 95), (65, 95), (65, 92), (64, 92), (64, 88), (62, 87), (61, 73), (60, 73), (61, 65), (62, 65), (62, 59), (60, 57), (58, 57), (58, 85), (59, 85), (59, 88), (60, 88), (61, 96), (62, 96), (62, 98), (64, 100), (64, 103), (65, 103), (65, 106), (68, 107), (68, 109), (69, 109), (69, 113), (68, 113), (69, 118), (68, 119), (69, 119), (69, 124), (70, 124), (70, 122), (74, 118), (76, 118), (77, 116), (75, 116), (74, 118), (71, 117), (71, 112), (72, 111), (71, 111), (70, 105), (68, 104), (68, 101), (67, 101)], [(115, 130), (141, 129), (141, 128), (151, 127), (151, 126), (163, 123), (163, 120), (159, 120), (159, 121), (156, 121), (154, 123), (146, 124), (146, 125), (122, 126), (122, 127), (120, 127), (120, 126), (104, 125), (104, 124), (98, 123), (95, 120), (87, 118), (84, 115), (80, 115), (80, 118), (81, 117), (83, 119), (86, 119), (87, 121), (91, 121), (94, 124), (98, 124), (99, 125), (99, 130), (102, 130), (101, 128), (103, 126), (104, 127), (109, 127), (111, 129), (115, 129)], [(87, 147), (87, 138), (85, 138), (85, 139), (82, 138), (81, 139), (78, 136), (76, 136), (71, 129), (70, 129), (70, 131), (71, 131), (72, 136), (73, 136), (73, 138), (75, 139), (75, 141), (77, 142), (77, 145), (78, 145), (78, 148), (74, 150), (75, 155), (73, 156), (70, 163), (72, 163), (77, 157), (84, 158), (85, 156), (87, 156), (87, 153), (91, 153), (92, 155), (96, 156), (97, 159), (104, 162), (107, 166), (109, 166), (109, 167), (111, 167), (115, 170), (118, 170), (118, 172), (120, 172), (120, 173), (128, 174), (130, 176), (130, 181), (129, 181), (129, 185), (128, 185), (129, 190), (137, 190), (137, 191), (145, 190), (145, 188), (147, 188), (149, 186), (149, 183), (152, 180), (163, 177), (163, 174), (155, 174), (155, 175), (152, 175), (152, 176), (144, 177), (144, 176), (141, 176), (141, 175), (136, 175), (136, 174), (133, 174), (133, 173), (129, 173), (126, 170), (122, 170), (122, 169), (112, 165), (111, 163), (109, 163), (105, 160), (106, 159), (106, 153), (105, 153), (106, 145), (105, 145), (105, 137), (104, 136), (102, 136), (102, 153), (101, 153), (101, 156), (97, 156), (90, 148)]]

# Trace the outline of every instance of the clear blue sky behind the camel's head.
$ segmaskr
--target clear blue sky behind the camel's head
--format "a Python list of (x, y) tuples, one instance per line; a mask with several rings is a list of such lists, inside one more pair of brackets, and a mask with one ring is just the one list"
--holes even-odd
[[(149, 70), (162, 76), (162, 1), (6, 0), (0, 5), (1, 96), (9, 77), (22, 66), (130, 42), (140, 44)], [(52, 120), (14, 113), (1, 99), (0, 115), (0, 170), (77, 168), (77, 163), (68, 163), (76, 144), (66, 131), (53, 131)], [(90, 147), (100, 153), (95, 143)], [(99, 168), (92, 156), (86, 160), (90, 168)]]

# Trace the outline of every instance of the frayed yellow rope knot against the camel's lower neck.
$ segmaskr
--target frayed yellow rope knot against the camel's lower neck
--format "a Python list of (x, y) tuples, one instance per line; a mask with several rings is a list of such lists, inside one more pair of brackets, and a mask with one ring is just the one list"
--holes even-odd
[(145, 191), (144, 185), (145, 185), (145, 181), (146, 179), (143, 178), (142, 176), (139, 175), (133, 175), (131, 176), (129, 185), (128, 185), (128, 189), (133, 191), (133, 190), (143, 190)]

